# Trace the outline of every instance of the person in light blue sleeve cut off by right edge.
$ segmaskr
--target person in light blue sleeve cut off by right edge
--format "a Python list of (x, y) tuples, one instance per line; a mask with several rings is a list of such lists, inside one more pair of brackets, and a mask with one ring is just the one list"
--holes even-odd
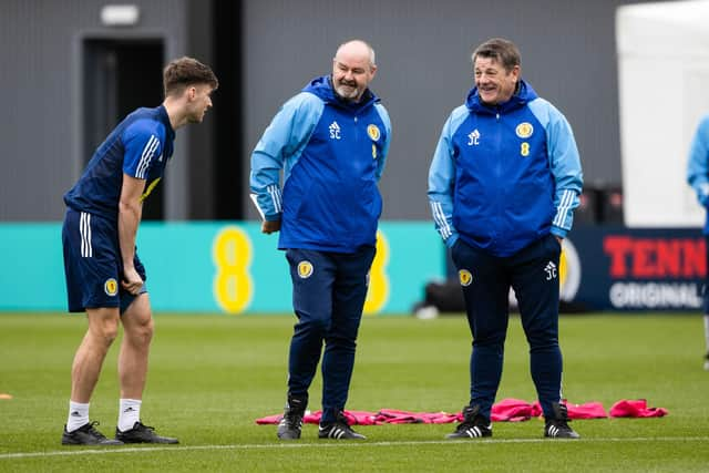
[[(687, 182), (697, 193), (699, 204), (709, 208), (709, 115), (705, 115), (697, 126), (695, 137), (689, 148), (689, 163), (687, 165)], [(709, 214), (703, 228), (705, 240), (709, 248)], [(707, 267), (709, 267), (709, 250), (706, 253)], [(705, 370), (709, 371), (709, 277), (705, 280), (705, 341), (707, 356), (705, 357)]]

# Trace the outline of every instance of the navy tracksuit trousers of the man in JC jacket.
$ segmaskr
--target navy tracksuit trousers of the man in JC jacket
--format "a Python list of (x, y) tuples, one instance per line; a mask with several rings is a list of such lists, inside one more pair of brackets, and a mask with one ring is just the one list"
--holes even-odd
[(473, 336), (470, 404), (490, 419), (500, 380), (514, 289), (522, 327), (530, 345), (532, 380), (544, 415), (554, 418), (562, 399), (562, 351), (558, 346), (558, 264), (561, 245), (547, 235), (515, 255), (495, 257), (462, 239), (451, 256), (459, 269), (467, 322)]

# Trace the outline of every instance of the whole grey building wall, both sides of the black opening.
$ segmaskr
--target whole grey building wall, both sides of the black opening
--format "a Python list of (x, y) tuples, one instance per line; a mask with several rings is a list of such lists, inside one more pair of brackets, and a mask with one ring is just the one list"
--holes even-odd
[[(131, 3), (141, 9), (140, 24), (112, 29), (100, 24), (102, 0), (0, 0), (0, 220), (63, 216), (61, 196), (82, 168), (83, 38), (160, 37), (167, 58), (195, 54), (212, 61), (210, 1)], [(383, 216), (429, 219), (428, 166), (444, 120), (472, 85), (471, 50), (502, 35), (518, 44), (523, 76), (572, 123), (586, 182), (619, 184), (614, 18), (616, 7), (626, 3), (634, 2), (243, 0), (242, 24), (234, 25), (243, 56), (227, 59), (242, 61), (245, 71), (237, 104), (245, 126), (234, 130), (243, 133), (244, 146), (233, 151), (234, 160), (247, 171), (251, 148), (281, 103), (330, 71), (339, 43), (362, 38), (377, 50), (372, 90), (394, 127), (381, 186)], [(215, 196), (208, 189), (219, 169), (208, 126), (177, 134), (165, 182), (169, 219), (212, 215)], [(234, 205), (256, 218), (246, 194)]]

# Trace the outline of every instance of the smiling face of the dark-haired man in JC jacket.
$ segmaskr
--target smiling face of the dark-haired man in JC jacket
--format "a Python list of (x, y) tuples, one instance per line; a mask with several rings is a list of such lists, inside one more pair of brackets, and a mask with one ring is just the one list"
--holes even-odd
[(508, 101), (520, 80), (520, 66), (506, 70), (495, 58), (476, 56), (473, 64), (480, 100), (487, 105)]

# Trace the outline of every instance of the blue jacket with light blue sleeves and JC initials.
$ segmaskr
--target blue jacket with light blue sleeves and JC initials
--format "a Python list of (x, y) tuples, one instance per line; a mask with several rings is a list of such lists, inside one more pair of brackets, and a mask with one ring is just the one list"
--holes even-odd
[(436, 230), (491, 255), (514, 255), (549, 233), (564, 237), (578, 206), (583, 173), (564, 115), (520, 81), (489, 106), (477, 89), (443, 126), (429, 171)]

